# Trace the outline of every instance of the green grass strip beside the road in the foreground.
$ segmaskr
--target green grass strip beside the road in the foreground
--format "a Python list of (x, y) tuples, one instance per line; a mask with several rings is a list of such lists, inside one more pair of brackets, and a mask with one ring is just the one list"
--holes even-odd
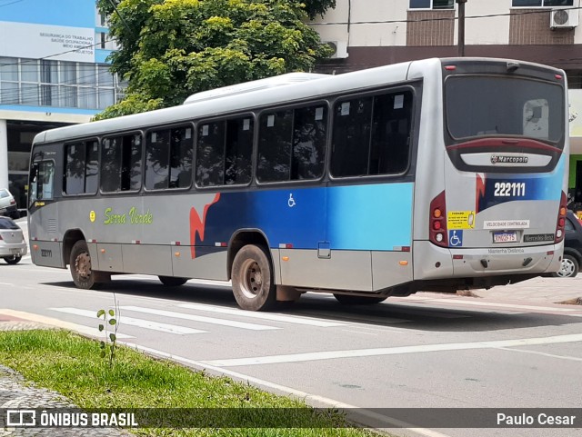
[[(346, 436), (378, 435), (357, 429), (336, 411), (315, 411), (304, 402), (263, 392), (227, 377), (210, 376), (158, 360), (127, 347), (117, 347), (112, 366), (100, 356), (99, 343), (55, 330), (0, 332), (0, 363), (20, 372), (36, 386), (60, 392), (83, 409), (153, 409), (156, 416), (174, 410), (180, 422), (185, 409), (220, 414), (241, 413), (254, 425), (274, 423), (273, 414), (300, 413), (295, 428), (134, 428), (138, 435), (164, 436)], [(216, 410), (218, 409), (218, 410)], [(252, 410), (249, 416), (247, 409)], [(285, 409), (285, 410), (284, 410)], [(306, 409), (309, 413), (306, 414)], [(232, 414), (230, 416), (232, 418)], [(155, 419), (155, 417), (154, 417)], [(207, 422), (205, 422), (207, 423)], [(242, 422), (241, 423), (248, 423)]]

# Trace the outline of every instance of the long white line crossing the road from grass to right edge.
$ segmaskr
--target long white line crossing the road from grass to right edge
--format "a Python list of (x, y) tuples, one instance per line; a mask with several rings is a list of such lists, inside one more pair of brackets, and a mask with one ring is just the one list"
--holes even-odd
[(419, 344), (416, 346), (398, 346), (376, 349), (355, 349), (346, 351), (327, 351), (315, 353), (289, 353), (286, 355), (259, 356), (250, 358), (233, 358), (226, 360), (209, 360), (202, 363), (216, 367), (235, 367), (256, 364), (300, 363), (336, 358), (359, 358), (366, 356), (401, 355), (405, 353), (428, 353), (444, 351), (466, 351), (470, 349), (499, 349), (505, 347), (532, 346), (540, 344), (582, 342), (582, 333), (556, 335), (553, 337), (524, 338), (516, 340), (497, 340), (475, 343)]

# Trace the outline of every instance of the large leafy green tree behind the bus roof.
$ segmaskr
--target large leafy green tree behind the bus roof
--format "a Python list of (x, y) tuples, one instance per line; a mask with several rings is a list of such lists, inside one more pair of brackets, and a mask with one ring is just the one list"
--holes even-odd
[[(335, 0), (311, 1), (309, 15)], [(330, 55), (307, 26), (306, 5), (284, 0), (98, 0), (120, 45), (112, 70), (124, 101), (96, 119), (181, 104), (189, 94), (309, 71)], [(115, 5), (115, 7), (114, 7)]]

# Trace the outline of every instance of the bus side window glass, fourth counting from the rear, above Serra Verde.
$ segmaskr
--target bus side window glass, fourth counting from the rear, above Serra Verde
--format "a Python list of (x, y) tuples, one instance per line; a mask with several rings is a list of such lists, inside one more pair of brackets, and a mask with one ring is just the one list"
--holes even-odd
[(146, 144), (146, 189), (189, 187), (193, 151), (190, 126), (150, 132)]

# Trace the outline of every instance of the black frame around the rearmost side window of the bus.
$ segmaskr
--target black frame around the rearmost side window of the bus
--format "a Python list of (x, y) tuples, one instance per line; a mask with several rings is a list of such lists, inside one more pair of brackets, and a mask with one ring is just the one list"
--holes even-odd
[[(332, 158), (332, 147), (333, 147), (333, 117), (334, 109), (337, 102), (342, 100), (350, 100), (355, 98), (366, 98), (374, 97), (381, 94), (395, 94), (399, 91), (410, 91), (412, 94), (412, 107), (410, 110), (410, 130), (408, 134), (408, 163), (406, 164), (406, 169), (400, 173), (391, 174), (364, 174), (356, 176), (334, 176), (331, 173), (331, 158)], [(422, 104), (419, 104), (419, 100), (422, 100), (422, 81), (418, 79), (403, 81), (400, 84), (391, 85), (389, 87), (383, 86), (382, 88), (376, 88), (366, 92), (354, 92), (349, 94), (337, 95), (335, 99), (332, 100), (331, 109), (329, 111), (329, 116), (331, 117), (332, 131), (328, 137), (328, 156), (327, 156), (327, 174), (329, 181), (334, 184), (354, 184), (355, 181), (362, 181), (362, 184), (374, 183), (376, 181), (386, 181), (386, 180), (397, 180), (396, 182), (402, 182), (403, 178), (408, 177), (410, 172), (415, 169), (416, 165), (413, 162), (413, 158), (416, 154), (416, 147), (418, 144), (418, 129), (417, 125), (420, 124), (420, 111), (422, 109)], [(410, 176), (413, 177), (413, 176)], [(399, 179), (399, 180), (398, 180)]]

